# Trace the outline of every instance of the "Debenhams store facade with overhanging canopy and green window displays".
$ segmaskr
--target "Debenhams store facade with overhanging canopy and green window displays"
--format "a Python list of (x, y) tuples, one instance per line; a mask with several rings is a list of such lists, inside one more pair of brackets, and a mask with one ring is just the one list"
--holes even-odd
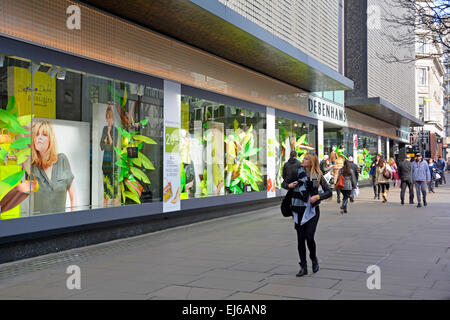
[(292, 150), (367, 180), (415, 120), (345, 101), (349, 2), (0, 0), (1, 243), (276, 199)]

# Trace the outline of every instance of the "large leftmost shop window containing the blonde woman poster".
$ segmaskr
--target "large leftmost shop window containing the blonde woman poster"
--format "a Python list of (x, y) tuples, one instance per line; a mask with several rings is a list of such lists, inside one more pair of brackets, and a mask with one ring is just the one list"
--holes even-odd
[(0, 58), (1, 219), (161, 200), (161, 90)]

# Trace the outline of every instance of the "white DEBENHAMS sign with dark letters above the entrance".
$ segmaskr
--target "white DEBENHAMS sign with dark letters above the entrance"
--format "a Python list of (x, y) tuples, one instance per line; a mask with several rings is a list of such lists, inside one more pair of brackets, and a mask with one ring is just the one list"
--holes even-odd
[(308, 111), (313, 118), (347, 126), (345, 108), (337, 103), (310, 95), (308, 97)]

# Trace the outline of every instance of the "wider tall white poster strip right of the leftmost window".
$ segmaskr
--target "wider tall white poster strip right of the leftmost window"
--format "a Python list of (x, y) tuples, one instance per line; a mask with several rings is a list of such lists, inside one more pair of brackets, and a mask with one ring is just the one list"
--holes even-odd
[(181, 86), (164, 81), (163, 212), (180, 210)]

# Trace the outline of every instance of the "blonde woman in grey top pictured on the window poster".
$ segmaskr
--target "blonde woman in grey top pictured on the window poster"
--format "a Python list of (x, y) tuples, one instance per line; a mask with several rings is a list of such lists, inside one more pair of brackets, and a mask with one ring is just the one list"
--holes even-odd
[(32, 127), (31, 174), (29, 160), (25, 169), (29, 179), (36, 179), (39, 191), (33, 193), (34, 214), (64, 212), (69, 194), (75, 209), (74, 175), (64, 153), (57, 153), (56, 138), (50, 121), (39, 120)]

